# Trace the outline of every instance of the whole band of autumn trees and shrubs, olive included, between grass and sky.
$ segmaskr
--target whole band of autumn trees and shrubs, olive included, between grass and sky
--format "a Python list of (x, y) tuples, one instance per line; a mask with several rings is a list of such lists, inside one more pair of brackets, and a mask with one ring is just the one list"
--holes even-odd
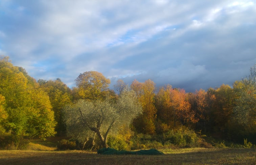
[(195, 92), (157, 88), (150, 79), (120, 79), (111, 90), (110, 79), (96, 71), (75, 83), (36, 81), (1, 57), (0, 148), (49, 137), (62, 138), (60, 149), (88, 150), (256, 144), (256, 64), (232, 87)]

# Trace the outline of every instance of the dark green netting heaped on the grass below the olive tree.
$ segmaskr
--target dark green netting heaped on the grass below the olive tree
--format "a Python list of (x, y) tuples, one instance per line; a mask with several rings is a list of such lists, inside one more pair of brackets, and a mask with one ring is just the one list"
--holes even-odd
[(164, 153), (158, 151), (157, 149), (148, 150), (138, 150), (138, 151), (118, 151), (113, 148), (101, 148), (97, 151), (98, 154), (104, 155), (164, 155)]

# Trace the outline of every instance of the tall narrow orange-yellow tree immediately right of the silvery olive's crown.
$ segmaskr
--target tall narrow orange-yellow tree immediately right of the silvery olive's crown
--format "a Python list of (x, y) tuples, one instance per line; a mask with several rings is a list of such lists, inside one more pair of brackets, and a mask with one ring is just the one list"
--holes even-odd
[(135, 91), (138, 100), (143, 108), (143, 113), (134, 120), (133, 126), (136, 131), (145, 134), (155, 134), (156, 108), (155, 108), (155, 83), (152, 80), (146, 80), (140, 83), (134, 80), (131, 88)]

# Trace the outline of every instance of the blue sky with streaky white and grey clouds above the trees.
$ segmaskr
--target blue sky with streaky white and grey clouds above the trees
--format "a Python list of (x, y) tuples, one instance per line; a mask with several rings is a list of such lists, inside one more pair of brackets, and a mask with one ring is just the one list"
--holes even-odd
[(1, 0), (0, 55), (69, 87), (87, 71), (110, 88), (232, 86), (256, 63), (256, 1)]

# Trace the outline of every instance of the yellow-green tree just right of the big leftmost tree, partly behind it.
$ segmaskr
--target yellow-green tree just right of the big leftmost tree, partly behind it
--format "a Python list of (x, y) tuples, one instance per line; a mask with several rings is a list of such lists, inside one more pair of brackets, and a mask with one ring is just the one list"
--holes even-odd
[(64, 84), (61, 79), (52, 80), (38, 80), (40, 87), (47, 92), (52, 110), (54, 111), (54, 119), (57, 122), (55, 130), (59, 135), (65, 132), (65, 124), (63, 122), (62, 110), (72, 101), (71, 90)]

